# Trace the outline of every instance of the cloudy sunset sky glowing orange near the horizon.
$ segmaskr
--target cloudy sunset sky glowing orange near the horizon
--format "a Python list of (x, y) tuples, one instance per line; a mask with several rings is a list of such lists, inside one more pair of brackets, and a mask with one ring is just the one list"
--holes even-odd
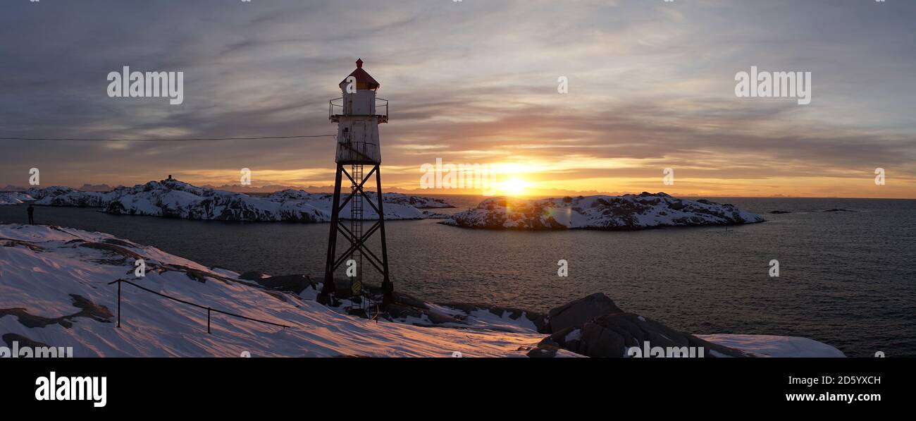
[[(916, 198), (914, 19), (903, 0), (10, 0), (0, 137), (335, 134), (328, 101), (361, 58), (390, 101), (388, 190), (441, 159), (496, 166), (511, 194)], [(183, 72), (183, 103), (109, 97), (124, 66)], [(736, 96), (752, 66), (811, 72), (811, 104)], [(42, 186), (248, 168), (328, 190), (333, 141), (0, 139), (0, 188), (31, 168)]]

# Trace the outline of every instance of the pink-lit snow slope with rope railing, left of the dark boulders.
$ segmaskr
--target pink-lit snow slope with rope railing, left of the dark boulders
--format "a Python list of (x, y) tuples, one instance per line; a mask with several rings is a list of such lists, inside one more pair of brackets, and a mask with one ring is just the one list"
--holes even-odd
[[(4, 247), (5, 246), (5, 247)], [(135, 278), (134, 260), (147, 276)], [(198, 305), (266, 320), (213, 314)], [(0, 225), (0, 338), (72, 347), (75, 357), (523, 357), (537, 332), (417, 327), (345, 316), (297, 294), (269, 291), (232, 271), (209, 269), (153, 247), (73, 228)]]

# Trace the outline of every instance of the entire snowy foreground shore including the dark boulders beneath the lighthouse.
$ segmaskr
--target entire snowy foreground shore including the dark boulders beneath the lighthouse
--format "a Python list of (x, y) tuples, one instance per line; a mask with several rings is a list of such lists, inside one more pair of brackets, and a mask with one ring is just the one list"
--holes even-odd
[[(144, 260), (146, 277), (134, 277), (136, 259)], [(213, 334), (207, 334), (206, 312), (124, 285), (122, 328), (115, 328), (116, 287), (108, 283), (116, 279), (290, 327), (217, 316)], [(604, 338), (605, 328), (635, 323), (630, 330), (642, 331), (653, 341), (700, 344), (720, 354), (842, 356), (829, 345), (805, 338), (694, 337), (623, 313), (602, 294), (547, 315), (480, 305), (432, 305), (403, 296), (376, 322), (318, 304), (318, 284), (308, 282), (292, 292), (250, 279), (104, 233), (0, 224), (0, 338), (7, 345), (27, 339), (73, 347), (77, 357), (236, 357), (245, 351), (256, 357), (451, 357), (455, 352), (465, 357), (563, 357), (578, 356), (576, 351), (608, 356), (606, 349), (595, 349), (594, 342), (583, 348), (580, 338)], [(605, 316), (595, 317), (601, 314)], [(634, 335), (627, 340), (642, 334)]]

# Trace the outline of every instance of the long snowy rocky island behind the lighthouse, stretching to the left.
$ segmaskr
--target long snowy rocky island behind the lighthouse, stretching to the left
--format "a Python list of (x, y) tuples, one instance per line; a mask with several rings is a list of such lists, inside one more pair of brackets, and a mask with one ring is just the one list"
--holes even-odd
[[(331, 220), (332, 194), (311, 194), (284, 190), (266, 197), (213, 190), (175, 179), (118, 187), (111, 192), (77, 192), (69, 187), (49, 187), (36, 191), (36, 205), (102, 207), (115, 215), (166, 216), (224, 221), (328, 222)], [(375, 194), (369, 193), (371, 197)], [(442, 207), (439, 199), (385, 195), (386, 219), (423, 219), (430, 217), (416, 206)], [(350, 216), (347, 204), (341, 211)], [(376, 219), (372, 206), (363, 205), (363, 217)], [(430, 215), (430, 216), (428, 216)]]

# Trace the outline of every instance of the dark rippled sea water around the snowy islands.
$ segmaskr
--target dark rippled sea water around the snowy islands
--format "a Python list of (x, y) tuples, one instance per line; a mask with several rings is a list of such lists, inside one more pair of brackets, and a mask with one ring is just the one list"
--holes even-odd
[[(480, 200), (446, 197), (460, 207), (451, 212)], [(546, 311), (600, 292), (626, 311), (694, 334), (802, 336), (848, 356), (916, 356), (916, 201), (711, 200), (768, 221), (633, 232), (489, 231), (436, 220), (389, 221), (392, 277), (399, 291), (433, 302)], [(834, 208), (854, 212), (825, 212)], [(769, 214), (774, 210), (791, 213)], [(26, 217), (23, 205), (0, 206), (0, 221)], [(108, 232), (209, 266), (318, 279), (330, 227), (45, 206), (37, 206), (36, 219)], [(568, 277), (557, 275), (558, 260), (569, 262)], [(770, 260), (779, 260), (779, 277), (769, 277)], [(366, 278), (377, 280), (368, 271)]]

